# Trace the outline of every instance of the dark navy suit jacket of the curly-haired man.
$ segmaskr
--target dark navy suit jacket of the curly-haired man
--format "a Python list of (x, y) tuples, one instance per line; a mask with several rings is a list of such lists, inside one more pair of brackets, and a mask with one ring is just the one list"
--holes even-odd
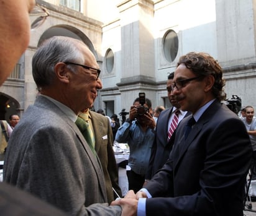
[(188, 118), (177, 127), (169, 160), (145, 186), (156, 197), (146, 201), (147, 216), (242, 216), (252, 157), (244, 124), (215, 101), (185, 141)]

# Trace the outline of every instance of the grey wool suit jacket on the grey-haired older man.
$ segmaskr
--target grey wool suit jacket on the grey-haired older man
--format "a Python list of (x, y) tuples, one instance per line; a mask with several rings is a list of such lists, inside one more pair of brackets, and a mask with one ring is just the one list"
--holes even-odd
[(121, 214), (107, 207), (103, 171), (78, 127), (40, 95), (9, 139), (4, 181), (69, 215)]

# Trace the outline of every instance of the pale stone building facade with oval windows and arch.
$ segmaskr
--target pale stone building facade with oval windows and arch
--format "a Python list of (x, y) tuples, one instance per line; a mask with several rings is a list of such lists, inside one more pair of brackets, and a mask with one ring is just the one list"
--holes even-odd
[(238, 95), (243, 106), (256, 108), (255, 0), (38, 2), (50, 17), (31, 32), (29, 48), (0, 87), (1, 119), (22, 114), (34, 102), (31, 59), (53, 35), (78, 38), (93, 51), (103, 81), (94, 108), (109, 116), (129, 111), (139, 92), (145, 92), (153, 107), (170, 106), (168, 72), (190, 51), (216, 58), (224, 69), (227, 98)]

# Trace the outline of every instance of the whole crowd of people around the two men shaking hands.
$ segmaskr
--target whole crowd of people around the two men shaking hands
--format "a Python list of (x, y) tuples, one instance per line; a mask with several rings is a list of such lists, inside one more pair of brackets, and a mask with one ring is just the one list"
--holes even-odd
[[(34, 7), (32, 0), (1, 4), (0, 85), (29, 43)], [(55, 36), (35, 52), (39, 95), (21, 121), (10, 116), (15, 128), (1, 148), (1, 215), (242, 216), (245, 179), (256, 161), (254, 108), (239, 118), (221, 103), (225, 80), (216, 59), (181, 56), (167, 80), (172, 108), (155, 121), (149, 98), (136, 98), (121, 126), (117, 115), (90, 110), (103, 88), (100, 72), (80, 40)], [(124, 197), (114, 140), (130, 147)]]

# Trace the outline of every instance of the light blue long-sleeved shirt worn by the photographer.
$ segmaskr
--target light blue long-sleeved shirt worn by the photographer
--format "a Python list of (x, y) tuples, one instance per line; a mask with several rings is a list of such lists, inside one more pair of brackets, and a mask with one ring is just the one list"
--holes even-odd
[(129, 145), (128, 165), (139, 175), (145, 175), (147, 172), (154, 138), (155, 130), (148, 127), (143, 131), (137, 121), (132, 124), (125, 122), (116, 132), (116, 141)]

